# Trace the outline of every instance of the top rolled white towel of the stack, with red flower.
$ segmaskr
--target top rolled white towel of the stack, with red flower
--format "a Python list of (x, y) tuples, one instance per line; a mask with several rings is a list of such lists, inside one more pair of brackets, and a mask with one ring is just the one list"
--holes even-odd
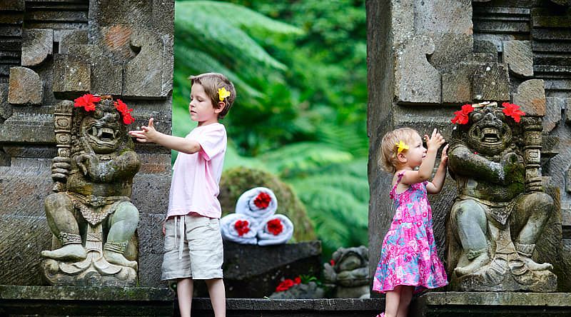
[(236, 213), (250, 216), (258, 226), (262, 226), (268, 217), (276, 213), (277, 209), (278, 199), (273, 191), (266, 187), (249, 189), (236, 202)]

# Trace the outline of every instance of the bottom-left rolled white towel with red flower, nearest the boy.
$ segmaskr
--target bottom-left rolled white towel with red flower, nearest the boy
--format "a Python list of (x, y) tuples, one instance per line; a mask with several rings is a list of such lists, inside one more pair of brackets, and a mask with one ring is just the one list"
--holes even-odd
[(257, 232), (253, 224), (256, 224), (256, 221), (246, 215), (230, 213), (223, 216), (220, 219), (222, 238), (241, 244), (256, 244), (258, 242)]

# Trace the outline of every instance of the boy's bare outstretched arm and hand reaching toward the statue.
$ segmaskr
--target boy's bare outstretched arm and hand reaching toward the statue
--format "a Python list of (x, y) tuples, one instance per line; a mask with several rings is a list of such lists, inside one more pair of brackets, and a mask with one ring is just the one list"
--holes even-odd
[(153, 124), (154, 119), (148, 119), (148, 126), (141, 126), (141, 130), (129, 131), (130, 136), (134, 136), (142, 143), (156, 143), (168, 149), (186, 154), (194, 154), (201, 150), (198, 141), (181, 138), (179, 136), (169, 136), (156, 131)]

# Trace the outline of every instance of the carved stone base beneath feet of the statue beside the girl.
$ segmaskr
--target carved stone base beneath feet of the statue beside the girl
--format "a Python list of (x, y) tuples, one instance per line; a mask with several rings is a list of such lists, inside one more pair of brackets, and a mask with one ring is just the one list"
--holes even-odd
[(509, 271), (497, 280), (490, 274), (489, 266), (479, 271), (458, 277), (456, 273), (450, 278), (453, 291), (530, 291), (555, 292), (557, 276), (551, 271), (527, 271), (522, 276), (515, 276)]

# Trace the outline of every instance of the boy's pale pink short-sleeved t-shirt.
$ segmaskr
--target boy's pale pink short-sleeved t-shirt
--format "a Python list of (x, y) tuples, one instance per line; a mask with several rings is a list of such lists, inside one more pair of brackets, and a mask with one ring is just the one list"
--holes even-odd
[(218, 123), (197, 126), (186, 139), (198, 141), (201, 150), (195, 154), (178, 153), (173, 166), (167, 218), (188, 213), (220, 218), (218, 183), (226, 153), (226, 129)]

